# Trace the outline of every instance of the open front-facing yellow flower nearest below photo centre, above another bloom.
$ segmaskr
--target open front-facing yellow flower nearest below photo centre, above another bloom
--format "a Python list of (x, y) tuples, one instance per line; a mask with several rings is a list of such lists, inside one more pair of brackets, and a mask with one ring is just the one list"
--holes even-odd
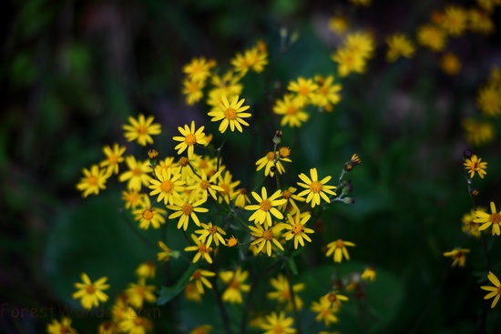
[(261, 225), (266, 223), (265, 225), (271, 227), (271, 215), (278, 219), (283, 218), (281, 212), (276, 208), (287, 202), (284, 198), (278, 199), (281, 197), (281, 190), (275, 191), (271, 197), (268, 197), (266, 187), (261, 187), (261, 197), (254, 191), (251, 192), (251, 195), (259, 204), (252, 204), (244, 207), (246, 210), (255, 210), (249, 218), (249, 221), (254, 221), (256, 224)]

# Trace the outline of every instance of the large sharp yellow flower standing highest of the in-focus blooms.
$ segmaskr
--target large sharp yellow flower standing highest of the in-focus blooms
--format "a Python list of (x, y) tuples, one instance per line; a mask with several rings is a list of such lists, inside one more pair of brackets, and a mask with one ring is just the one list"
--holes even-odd
[(212, 116), (210, 121), (218, 122), (222, 120), (219, 127), (221, 133), (224, 133), (228, 126), (230, 126), (231, 131), (235, 131), (235, 128), (237, 128), (237, 130), (243, 132), (241, 125), (249, 127), (249, 123), (242, 118), (251, 117), (251, 113), (244, 113), (250, 107), (242, 106), (244, 102), (245, 99), (243, 98), (239, 101), (239, 96), (234, 96), (231, 102), (228, 102), (226, 96), (221, 96), (220, 110), (213, 110), (208, 113), (209, 116)]

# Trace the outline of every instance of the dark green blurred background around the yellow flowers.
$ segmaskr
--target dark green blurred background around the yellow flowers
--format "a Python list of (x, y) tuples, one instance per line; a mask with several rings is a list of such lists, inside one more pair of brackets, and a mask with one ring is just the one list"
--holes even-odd
[[(477, 204), (488, 207), (494, 201), (501, 207), (499, 136), (472, 147), (462, 127), (465, 117), (480, 114), (477, 91), (492, 66), (501, 66), (499, 31), (465, 34), (448, 44), (462, 62), (455, 76), (446, 75), (439, 56), (424, 48), (412, 59), (393, 64), (384, 60), (387, 35), (400, 31), (415, 40), (416, 27), (447, 4), (477, 5), (5, 1), (0, 302), (10, 309), (76, 305), (71, 293), (83, 268), (95, 278), (110, 277), (110, 295), (117, 294), (133, 279), (138, 264), (154, 259), (157, 250), (120, 225), (120, 195), (112, 184), (103, 197), (81, 197), (76, 184), (82, 167), (100, 161), (104, 145), (125, 142), (121, 125), (128, 116), (155, 116), (166, 140), (190, 119), (209, 124), (207, 107), (186, 106), (180, 93), (181, 68), (194, 56), (229, 64), (236, 52), (262, 39), (271, 54), (270, 86), (286, 86), (298, 76), (335, 75), (330, 54), (341, 38), (329, 30), (328, 22), (339, 14), (349, 19), (350, 29), (370, 31), (376, 50), (365, 73), (337, 76), (343, 85), (341, 103), (332, 113), (312, 116), (294, 147), (292, 161), (298, 160), (298, 171), (318, 167), (334, 178), (353, 153), (363, 160), (350, 175), (355, 205), (334, 206), (322, 215), (329, 228), (319, 240), (355, 242), (357, 247), (350, 249), (353, 261), (380, 270), (386, 282), (383, 296), (398, 294), (388, 309), (381, 310), (381, 305), (375, 321), (379, 325), (371, 332), (496, 332), (501, 328), (499, 306), (490, 310), (479, 288), (486, 283), (486, 260), (479, 241), (461, 231), (461, 218), (472, 208), (462, 166), (466, 148), (488, 162), (486, 178), (474, 178), (480, 190)], [(499, 10), (491, 18), (501, 22)], [(298, 38), (279, 55), (284, 34)], [(262, 94), (259, 85), (249, 81), (244, 87), (250, 103)], [(263, 128), (274, 130), (280, 123), (272, 116), (265, 119)], [(492, 125), (499, 133), (499, 118), (493, 118)], [(252, 131), (258, 134), (262, 128)], [(225, 161), (230, 169), (238, 166), (242, 149), (251, 147), (250, 137), (234, 138), (227, 154), (235, 159)], [(254, 147), (251, 157), (257, 159), (269, 149)], [(233, 169), (238, 179), (250, 179), (253, 161)], [(486, 247), (499, 277), (501, 248), (498, 238), (489, 237)], [(465, 268), (450, 268), (450, 258), (443, 257), (455, 247), (472, 249)], [(319, 266), (327, 263), (322, 261)], [(305, 279), (314, 284), (322, 278)], [(50, 321), (13, 317), (4, 307), (2, 312), (0, 331), (5, 333), (44, 332)], [(186, 332), (179, 323), (189, 317), (192, 314), (172, 313), (158, 319), (157, 332)], [(86, 327), (84, 319), (75, 324), (84, 333), (96, 329), (96, 324)], [(342, 333), (364, 332), (356, 319), (343, 326)]]

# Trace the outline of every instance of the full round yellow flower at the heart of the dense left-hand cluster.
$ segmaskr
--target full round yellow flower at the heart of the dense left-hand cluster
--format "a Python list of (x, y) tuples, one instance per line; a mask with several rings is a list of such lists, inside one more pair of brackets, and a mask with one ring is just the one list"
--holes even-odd
[(161, 173), (157, 173), (157, 178), (151, 178), (149, 186), (151, 192), (149, 196), (157, 196), (157, 202), (163, 200), (164, 204), (174, 204), (174, 199), (179, 198), (179, 194), (184, 191), (184, 181), (180, 180), (181, 174), (173, 173), (172, 168), (161, 169)]

